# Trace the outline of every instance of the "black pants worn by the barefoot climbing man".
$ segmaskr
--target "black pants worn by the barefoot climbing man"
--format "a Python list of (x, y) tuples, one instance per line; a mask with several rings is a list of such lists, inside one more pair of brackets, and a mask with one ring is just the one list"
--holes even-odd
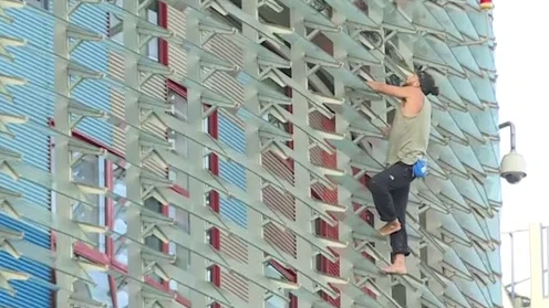
[(406, 233), (406, 208), (408, 204), (412, 166), (396, 162), (382, 172), (375, 174), (367, 182), (372, 192), (375, 209), (384, 222), (398, 219), (401, 230), (391, 234), (393, 255), (410, 255), (408, 236)]

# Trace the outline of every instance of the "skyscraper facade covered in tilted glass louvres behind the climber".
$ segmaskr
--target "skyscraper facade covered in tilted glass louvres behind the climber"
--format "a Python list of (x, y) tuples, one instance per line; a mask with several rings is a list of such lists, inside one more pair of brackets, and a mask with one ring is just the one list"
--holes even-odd
[[(486, 2), (483, 8), (486, 8)], [(501, 307), (478, 0), (0, 0), (0, 307)], [(365, 188), (427, 70), (429, 174), (385, 276)]]

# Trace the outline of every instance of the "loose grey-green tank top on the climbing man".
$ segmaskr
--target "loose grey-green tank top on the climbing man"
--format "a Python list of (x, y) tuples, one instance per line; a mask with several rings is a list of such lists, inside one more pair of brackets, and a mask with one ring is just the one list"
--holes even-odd
[(402, 114), (402, 106), (396, 108), (391, 132), (389, 135), (387, 164), (402, 161), (414, 164), (427, 152), (431, 134), (431, 102), (425, 99), (423, 108), (415, 117)]

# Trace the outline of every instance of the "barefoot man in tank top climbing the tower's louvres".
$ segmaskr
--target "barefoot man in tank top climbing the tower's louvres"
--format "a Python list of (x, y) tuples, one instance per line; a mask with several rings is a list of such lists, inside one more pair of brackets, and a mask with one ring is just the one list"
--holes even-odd
[(367, 85), (402, 99), (389, 131), (387, 168), (370, 179), (367, 188), (381, 221), (385, 222), (380, 233), (391, 237), (393, 261), (383, 272), (404, 275), (410, 255), (406, 234), (410, 185), (426, 171), (431, 103), (425, 95), (438, 95), (438, 87), (433, 76), (423, 71), (411, 75), (403, 86), (379, 82), (367, 82)]

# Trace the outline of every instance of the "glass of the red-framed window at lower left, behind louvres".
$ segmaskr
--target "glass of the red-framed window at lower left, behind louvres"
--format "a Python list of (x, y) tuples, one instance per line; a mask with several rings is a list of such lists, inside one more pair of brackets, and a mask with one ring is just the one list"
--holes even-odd
[[(105, 185), (105, 161), (96, 156), (72, 153), (73, 168), (72, 180), (75, 183), (83, 183), (92, 187)], [(90, 194), (87, 201), (94, 203), (95, 206), (76, 202), (73, 205), (73, 219), (81, 222), (86, 222), (95, 225), (105, 225), (105, 198), (101, 195)], [(105, 252), (105, 235), (90, 234), (102, 253)]]

